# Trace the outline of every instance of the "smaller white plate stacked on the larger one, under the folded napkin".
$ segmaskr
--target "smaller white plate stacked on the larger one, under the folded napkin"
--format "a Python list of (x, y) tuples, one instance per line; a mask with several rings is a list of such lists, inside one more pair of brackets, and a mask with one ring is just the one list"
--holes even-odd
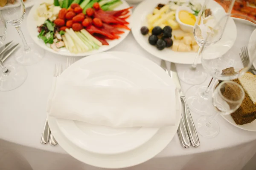
[[(173, 84), (172, 79), (164, 74), (157, 64), (127, 52), (90, 55), (67, 68), (61, 76), (71, 79), (78, 72), (85, 73), (85, 84), (116, 87)], [(61, 132), (73, 144), (99, 154), (117, 154), (134, 150), (159, 130), (157, 127), (111, 128), (65, 119), (58, 119), (57, 122)], [(179, 124), (179, 121), (175, 124)]]

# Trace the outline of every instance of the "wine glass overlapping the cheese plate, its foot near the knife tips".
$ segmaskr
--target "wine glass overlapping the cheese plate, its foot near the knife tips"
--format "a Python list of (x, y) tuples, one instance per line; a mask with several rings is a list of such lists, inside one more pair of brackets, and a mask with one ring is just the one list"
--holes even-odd
[[(201, 84), (206, 80), (207, 73), (204, 72), (204, 70), (197, 69), (197, 63), (203, 51), (202, 46), (210, 46), (217, 43), (221, 39), (223, 33), (222, 26), (224, 25), (220, 25), (218, 35), (214, 34), (211, 39), (207, 39), (206, 41), (207, 35), (209, 33), (213, 33), (211, 32), (211, 29), (215, 23), (218, 22), (218, 20), (226, 13), (231, 12), (235, 0), (227, 0), (227, 3), (225, 3), (225, 8), (216, 6), (214, 3), (216, 2), (212, 0), (205, 0), (198, 17), (196, 18), (193, 34), (196, 42), (198, 43), (199, 49), (192, 66), (189, 69), (186, 69), (180, 77), (180, 79), (186, 84), (196, 85)], [(212, 8), (212, 6), (215, 7)]]

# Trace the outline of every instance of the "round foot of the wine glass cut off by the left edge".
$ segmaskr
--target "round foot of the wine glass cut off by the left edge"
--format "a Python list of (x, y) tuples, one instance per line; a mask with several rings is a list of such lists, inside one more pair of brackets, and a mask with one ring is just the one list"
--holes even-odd
[(21, 86), (27, 77), (26, 69), (15, 63), (5, 64), (8, 72), (0, 69), (0, 91), (10, 91)]

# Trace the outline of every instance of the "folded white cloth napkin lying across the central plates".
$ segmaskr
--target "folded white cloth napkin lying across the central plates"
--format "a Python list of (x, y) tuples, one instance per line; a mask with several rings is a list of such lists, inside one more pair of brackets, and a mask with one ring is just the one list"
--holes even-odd
[(175, 125), (175, 86), (120, 88), (54, 78), (47, 112), (55, 118), (109, 127)]

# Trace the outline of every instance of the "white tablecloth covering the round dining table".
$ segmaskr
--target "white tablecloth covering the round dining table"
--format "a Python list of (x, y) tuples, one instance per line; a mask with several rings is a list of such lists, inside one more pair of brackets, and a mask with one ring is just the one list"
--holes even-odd
[[(29, 9), (26, 12), (28, 14)], [(26, 18), (21, 27), (27, 41), (32, 42)], [(21, 43), (15, 28), (8, 25), (6, 42), (10, 40)], [(158, 58), (140, 47), (131, 33), (111, 51), (136, 53), (160, 64)], [(7, 62), (12, 60), (10, 57)], [(46, 52), (40, 63), (26, 66), (28, 77), (22, 86), (0, 92), (0, 170), (102, 170), (77, 161), (59, 145), (52, 147), (40, 143), (54, 64), (66, 64), (66, 60), (66, 57)], [(189, 65), (176, 66), (180, 70)], [(208, 83), (209, 78), (204, 84)], [(189, 85), (182, 84), (182, 88), (186, 91)], [(192, 112), (192, 117), (196, 121), (199, 115)], [(256, 133), (234, 127), (221, 116), (216, 120), (220, 133), (215, 138), (199, 135), (199, 148), (184, 149), (175, 135), (155, 158), (126, 170), (241, 170), (256, 153)], [(244, 170), (255, 169), (256, 156)]]

